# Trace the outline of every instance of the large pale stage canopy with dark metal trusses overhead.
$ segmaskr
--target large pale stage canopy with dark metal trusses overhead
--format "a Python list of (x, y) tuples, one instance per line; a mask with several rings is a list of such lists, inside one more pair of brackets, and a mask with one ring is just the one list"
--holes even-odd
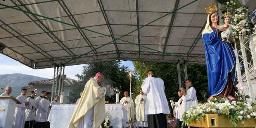
[[(249, 9), (255, 1), (246, 0)], [(33, 69), (131, 60), (205, 64), (215, 0), (0, 0), (0, 53)]]

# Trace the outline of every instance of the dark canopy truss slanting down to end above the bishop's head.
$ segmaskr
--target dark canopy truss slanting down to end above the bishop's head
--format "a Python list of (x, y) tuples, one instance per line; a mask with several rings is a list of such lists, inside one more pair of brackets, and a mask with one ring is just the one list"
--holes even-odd
[(78, 22), (76, 21), (76, 19), (74, 19), (73, 15), (71, 14), (71, 12), (69, 11), (69, 9), (67, 8), (67, 5), (64, 3), (63, 0), (58, 0), (59, 4), (61, 5), (62, 9), (66, 12), (67, 16), (69, 17), (69, 19), (73, 22), (73, 24), (75, 26), (78, 26), (79, 28), (77, 28), (77, 30), (79, 31), (79, 33), (81, 34), (81, 36), (83, 37), (83, 39), (86, 41), (86, 43), (89, 45), (89, 47), (92, 49), (93, 53), (95, 55), (97, 55), (97, 52), (95, 51), (92, 43), (90, 42), (90, 40), (87, 38), (87, 36), (85, 35), (85, 33), (82, 31), (81, 27), (79, 26)]

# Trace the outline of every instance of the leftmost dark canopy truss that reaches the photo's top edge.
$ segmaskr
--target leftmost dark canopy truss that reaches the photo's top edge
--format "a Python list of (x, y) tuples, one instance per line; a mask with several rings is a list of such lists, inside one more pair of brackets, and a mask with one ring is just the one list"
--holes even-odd
[[(19, 9), (21, 10), (26, 10), (28, 12), (31, 12), (31, 10), (28, 9), (28, 7), (24, 6), (24, 3), (21, 0), (10, 0), (12, 3), (14, 3)], [(22, 6), (18, 5), (16, 3), (16, 1), (18, 1)], [(23, 9), (24, 8), (24, 9)], [(69, 50), (66, 45), (64, 45), (64, 43), (54, 34), (52, 33), (52, 31), (50, 31), (50, 29), (47, 27), (47, 25), (45, 25), (42, 20), (38, 19), (38, 17), (28, 14), (28, 13), (24, 13), (26, 16), (29, 17), (29, 19), (31, 19), (33, 22), (35, 22), (35, 24), (41, 28), (48, 36), (50, 36), (50, 38), (52, 38), (52, 40), (54, 40), (63, 50), (65, 50), (71, 57), (75, 57), (74, 53)]]

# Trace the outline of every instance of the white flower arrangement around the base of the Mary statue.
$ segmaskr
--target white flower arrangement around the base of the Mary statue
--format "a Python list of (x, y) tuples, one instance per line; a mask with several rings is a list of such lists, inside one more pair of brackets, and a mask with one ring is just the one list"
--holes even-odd
[(227, 99), (215, 97), (205, 104), (198, 104), (196, 108), (190, 108), (189, 111), (184, 112), (182, 125), (197, 120), (201, 123), (201, 118), (208, 113), (224, 115), (225, 118), (230, 119), (229, 123), (233, 126), (237, 126), (239, 120), (243, 125), (246, 119), (256, 119), (256, 103), (250, 104), (246, 100), (244, 102), (232, 101), (230, 103)]

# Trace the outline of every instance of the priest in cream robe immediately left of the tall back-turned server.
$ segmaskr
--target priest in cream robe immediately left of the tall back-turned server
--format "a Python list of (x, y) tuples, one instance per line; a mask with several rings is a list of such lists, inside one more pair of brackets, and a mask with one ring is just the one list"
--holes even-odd
[(136, 127), (147, 127), (147, 115), (145, 115), (145, 104), (147, 102), (147, 95), (142, 92), (140, 88), (140, 95), (135, 99), (136, 105)]

